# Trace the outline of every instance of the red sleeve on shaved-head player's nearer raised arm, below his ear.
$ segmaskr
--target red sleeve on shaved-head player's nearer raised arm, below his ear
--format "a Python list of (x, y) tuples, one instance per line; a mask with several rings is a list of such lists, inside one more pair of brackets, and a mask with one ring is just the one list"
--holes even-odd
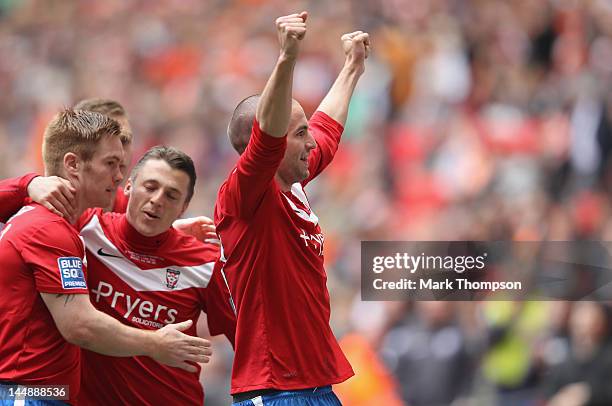
[(273, 184), (274, 174), (285, 149), (286, 137), (272, 137), (261, 131), (257, 120), (253, 122), (251, 139), (238, 165), (221, 187), (221, 210), (239, 218), (249, 218), (255, 213), (265, 192)]

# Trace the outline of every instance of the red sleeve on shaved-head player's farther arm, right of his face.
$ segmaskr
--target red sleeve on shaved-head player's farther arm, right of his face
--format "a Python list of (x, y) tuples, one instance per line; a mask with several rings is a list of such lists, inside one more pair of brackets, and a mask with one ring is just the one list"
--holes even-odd
[(310, 175), (302, 182), (302, 186), (306, 186), (308, 182), (317, 177), (334, 159), (344, 127), (327, 114), (318, 110), (308, 122), (308, 131), (317, 142), (317, 148), (310, 153), (308, 158)]

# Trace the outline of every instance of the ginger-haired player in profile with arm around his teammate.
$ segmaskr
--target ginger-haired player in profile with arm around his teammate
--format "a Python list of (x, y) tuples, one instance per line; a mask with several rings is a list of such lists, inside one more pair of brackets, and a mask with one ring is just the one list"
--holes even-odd
[[(108, 206), (121, 181), (118, 123), (98, 113), (65, 110), (49, 123), (43, 142), (47, 175), (72, 181), (77, 212)], [(147, 355), (193, 370), (207, 362), (210, 343), (180, 332), (191, 321), (156, 331), (128, 327), (97, 311), (86, 296), (84, 246), (64, 218), (33, 203), (0, 237), (0, 381), (80, 388), (80, 350), (123, 357)]]

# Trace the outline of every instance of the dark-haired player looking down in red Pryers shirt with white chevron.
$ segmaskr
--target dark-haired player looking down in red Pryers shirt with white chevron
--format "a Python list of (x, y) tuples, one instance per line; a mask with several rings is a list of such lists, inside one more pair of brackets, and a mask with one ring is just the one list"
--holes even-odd
[[(138, 161), (127, 181), (126, 214), (96, 209), (81, 217), (90, 297), (99, 310), (142, 329), (192, 320), (186, 333), (195, 334), (195, 323), (204, 310), (211, 334), (225, 333), (231, 341), (234, 315), (224, 306), (225, 285), (218, 275), (213, 276), (218, 247), (172, 227), (187, 209), (195, 182), (188, 155), (154, 147)], [(201, 405), (199, 372), (199, 366), (186, 372), (148, 357), (115, 358), (84, 351), (79, 401), (87, 405)]]

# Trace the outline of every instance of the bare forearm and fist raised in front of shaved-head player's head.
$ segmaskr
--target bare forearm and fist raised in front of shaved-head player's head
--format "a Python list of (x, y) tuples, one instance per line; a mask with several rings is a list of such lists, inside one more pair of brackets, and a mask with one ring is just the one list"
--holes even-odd
[(291, 115), (293, 70), (300, 41), (306, 35), (305, 11), (276, 19), (280, 55), (257, 104), (255, 118), (263, 132), (273, 137), (287, 134)]

